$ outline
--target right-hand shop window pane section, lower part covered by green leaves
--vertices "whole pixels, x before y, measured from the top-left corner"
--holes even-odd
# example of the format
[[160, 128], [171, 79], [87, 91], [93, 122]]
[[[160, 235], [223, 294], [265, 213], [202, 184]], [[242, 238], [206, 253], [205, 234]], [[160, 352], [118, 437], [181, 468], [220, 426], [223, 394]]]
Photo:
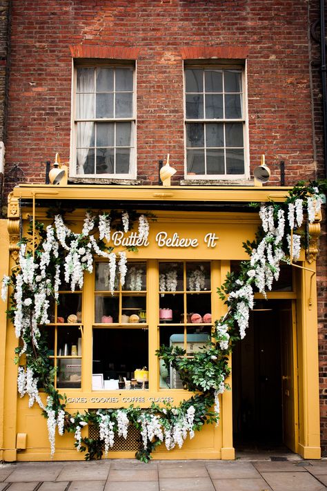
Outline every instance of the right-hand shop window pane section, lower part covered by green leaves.
[[[159, 263], [159, 342], [192, 356], [211, 340], [210, 262]], [[183, 388], [178, 374], [159, 360], [161, 389]]]

